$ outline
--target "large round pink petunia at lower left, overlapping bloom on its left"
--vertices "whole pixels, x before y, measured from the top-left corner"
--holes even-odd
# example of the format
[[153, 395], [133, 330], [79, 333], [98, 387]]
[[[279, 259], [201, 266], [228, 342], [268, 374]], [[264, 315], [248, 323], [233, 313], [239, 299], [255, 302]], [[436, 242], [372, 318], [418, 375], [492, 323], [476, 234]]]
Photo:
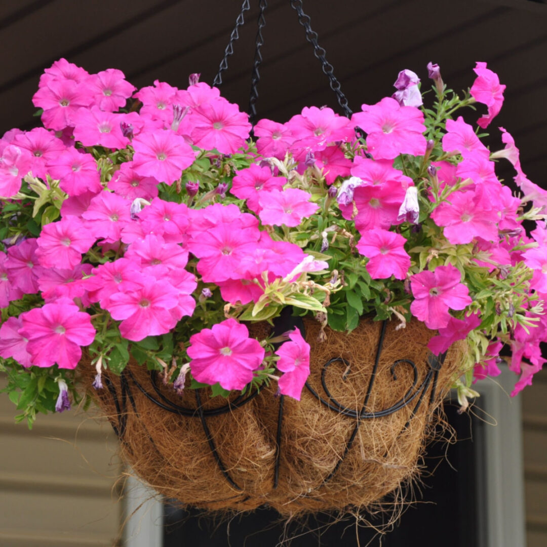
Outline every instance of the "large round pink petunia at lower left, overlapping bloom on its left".
[[19, 334], [27, 340], [32, 364], [48, 367], [55, 363], [61, 369], [74, 369], [82, 357], [80, 346], [89, 346], [95, 329], [88, 313], [68, 299], [61, 299], [20, 315]]

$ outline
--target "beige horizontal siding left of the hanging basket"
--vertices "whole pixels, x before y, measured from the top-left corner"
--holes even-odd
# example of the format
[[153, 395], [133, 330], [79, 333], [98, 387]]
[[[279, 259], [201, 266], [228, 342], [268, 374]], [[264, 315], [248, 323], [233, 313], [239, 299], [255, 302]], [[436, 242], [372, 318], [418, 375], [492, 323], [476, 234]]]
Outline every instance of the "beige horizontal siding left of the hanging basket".
[[15, 424], [0, 395], [0, 545], [119, 545], [120, 467], [107, 423], [76, 412]]

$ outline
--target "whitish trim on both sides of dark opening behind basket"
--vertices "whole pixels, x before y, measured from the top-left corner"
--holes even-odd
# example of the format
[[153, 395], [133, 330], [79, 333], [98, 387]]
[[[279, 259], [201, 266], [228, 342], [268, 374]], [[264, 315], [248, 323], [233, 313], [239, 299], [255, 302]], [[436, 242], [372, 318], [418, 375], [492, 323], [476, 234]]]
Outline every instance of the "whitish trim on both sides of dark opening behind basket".
[[[484, 531], [481, 547], [526, 545], [522, 412], [520, 397], [510, 398], [515, 375], [501, 366], [502, 374], [474, 386], [481, 394], [472, 411], [488, 423], [476, 450], [478, 522]], [[480, 411], [478, 410], [480, 409]], [[495, 423], [495, 425], [494, 425]], [[125, 547], [161, 547], [163, 504], [150, 487], [129, 478], [125, 488]]]

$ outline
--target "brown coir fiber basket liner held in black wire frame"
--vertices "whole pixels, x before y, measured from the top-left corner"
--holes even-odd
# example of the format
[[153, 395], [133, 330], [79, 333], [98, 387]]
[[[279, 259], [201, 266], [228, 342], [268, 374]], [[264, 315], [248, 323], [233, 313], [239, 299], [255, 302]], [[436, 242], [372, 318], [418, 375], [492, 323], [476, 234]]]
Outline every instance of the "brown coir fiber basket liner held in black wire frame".
[[[268, 504], [283, 516], [365, 509], [415, 477], [461, 346], [441, 364], [427, 349], [432, 331], [417, 321], [327, 328], [323, 342], [318, 323], [305, 327], [311, 374], [300, 401], [276, 397], [275, 382], [228, 403], [205, 389], [179, 397], [132, 362], [121, 377], [104, 374], [92, 396], [133, 471], [182, 505]], [[82, 369], [90, 386], [92, 367]]]

